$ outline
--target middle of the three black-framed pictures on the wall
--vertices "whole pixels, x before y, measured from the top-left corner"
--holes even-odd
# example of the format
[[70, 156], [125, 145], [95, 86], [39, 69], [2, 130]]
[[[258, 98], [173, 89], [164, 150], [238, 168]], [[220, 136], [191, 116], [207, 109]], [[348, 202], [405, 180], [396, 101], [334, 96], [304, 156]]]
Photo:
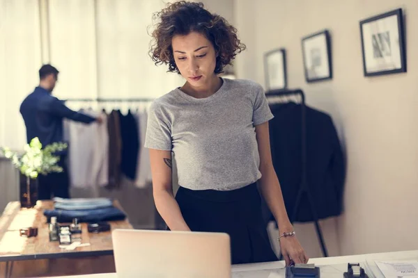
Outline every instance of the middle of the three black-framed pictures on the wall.
[[332, 79], [331, 38], [325, 30], [302, 38], [304, 74], [307, 82]]

